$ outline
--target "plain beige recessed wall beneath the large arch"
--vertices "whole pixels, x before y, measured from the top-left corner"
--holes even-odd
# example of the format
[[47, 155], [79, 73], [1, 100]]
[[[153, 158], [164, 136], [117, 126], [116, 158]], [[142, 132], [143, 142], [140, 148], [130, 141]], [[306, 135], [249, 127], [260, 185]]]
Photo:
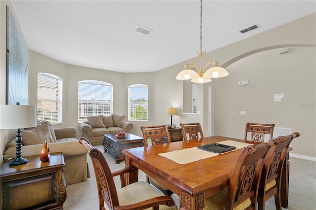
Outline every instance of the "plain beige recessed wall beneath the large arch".
[[[311, 47], [289, 48], [285, 54], [273, 49], [227, 67], [230, 76], [215, 84], [215, 135], [240, 139], [246, 122], [274, 123], [301, 134], [292, 142], [293, 153], [315, 157], [315, 58]], [[237, 84], [243, 80], [249, 84]], [[274, 102], [274, 94], [284, 94], [282, 102]]]

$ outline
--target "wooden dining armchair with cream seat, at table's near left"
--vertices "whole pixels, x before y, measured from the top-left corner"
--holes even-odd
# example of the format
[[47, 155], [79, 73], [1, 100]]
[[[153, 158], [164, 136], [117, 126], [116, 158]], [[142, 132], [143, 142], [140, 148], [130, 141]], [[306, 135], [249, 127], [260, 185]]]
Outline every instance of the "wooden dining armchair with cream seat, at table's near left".
[[[130, 173], [131, 167], [111, 173], [109, 165], [102, 152], [94, 148], [89, 140], [80, 138], [82, 144], [91, 157], [97, 190], [99, 196], [99, 210], [136, 210], [153, 207], [154, 210], [177, 210], [174, 200], [163, 195], [154, 186], [145, 181], [137, 181], [127, 185], [124, 176]], [[114, 176], [119, 175], [121, 188], [116, 189]]]

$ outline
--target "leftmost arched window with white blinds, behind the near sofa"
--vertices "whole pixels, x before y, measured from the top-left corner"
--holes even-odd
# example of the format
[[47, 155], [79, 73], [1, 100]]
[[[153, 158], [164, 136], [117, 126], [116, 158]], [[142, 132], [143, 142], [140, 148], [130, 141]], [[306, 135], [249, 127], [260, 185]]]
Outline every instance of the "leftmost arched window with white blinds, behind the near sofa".
[[63, 122], [63, 79], [50, 73], [38, 73], [38, 121], [52, 125]]

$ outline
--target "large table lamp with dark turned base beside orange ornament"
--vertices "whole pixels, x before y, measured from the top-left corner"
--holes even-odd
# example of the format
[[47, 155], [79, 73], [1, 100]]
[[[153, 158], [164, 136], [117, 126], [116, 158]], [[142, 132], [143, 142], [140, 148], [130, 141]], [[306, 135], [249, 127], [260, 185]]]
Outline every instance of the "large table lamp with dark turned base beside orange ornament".
[[[17, 103], [18, 104], [18, 103]], [[36, 127], [35, 105], [0, 105], [0, 129], [15, 129], [16, 158], [9, 166], [18, 166], [28, 163], [22, 158], [22, 135], [20, 128]]]

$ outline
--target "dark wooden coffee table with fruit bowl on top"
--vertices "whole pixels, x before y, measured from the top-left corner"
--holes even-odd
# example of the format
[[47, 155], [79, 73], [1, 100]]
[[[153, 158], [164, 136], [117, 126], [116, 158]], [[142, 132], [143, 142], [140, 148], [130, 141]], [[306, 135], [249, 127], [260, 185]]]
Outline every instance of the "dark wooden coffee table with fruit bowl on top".
[[104, 134], [103, 148], [104, 152], [110, 152], [118, 164], [125, 159], [122, 150], [144, 146], [144, 139], [133, 134], [125, 133], [124, 137], [118, 137], [116, 134]]

